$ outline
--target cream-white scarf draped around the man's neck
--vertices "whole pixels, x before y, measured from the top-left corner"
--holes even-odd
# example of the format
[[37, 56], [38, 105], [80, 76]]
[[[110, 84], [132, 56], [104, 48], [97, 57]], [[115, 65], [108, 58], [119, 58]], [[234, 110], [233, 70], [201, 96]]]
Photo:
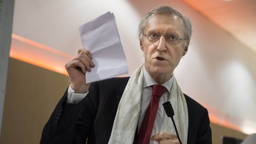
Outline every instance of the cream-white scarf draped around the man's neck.
[[[119, 107], [117, 108], [116, 118], [114, 120], [109, 144], [132, 144], [137, 122], [140, 114], [140, 100], [143, 91], [143, 65], [133, 72], [132, 76], [124, 89]], [[174, 121], [177, 126], [178, 133], [183, 143], [187, 143], [188, 133], [188, 110], [185, 97], [176, 79], [171, 87], [171, 92], [167, 97], [171, 101], [174, 109]], [[162, 105], [159, 105], [160, 107]], [[174, 125], [169, 117], [165, 115], [161, 126], [161, 132], [175, 133]]]

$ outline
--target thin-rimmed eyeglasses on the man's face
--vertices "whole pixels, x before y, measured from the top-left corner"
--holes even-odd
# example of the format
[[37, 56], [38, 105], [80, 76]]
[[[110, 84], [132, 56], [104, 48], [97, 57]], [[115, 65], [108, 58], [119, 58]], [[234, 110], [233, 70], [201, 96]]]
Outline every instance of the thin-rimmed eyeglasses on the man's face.
[[144, 34], [143, 36], [145, 36], [149, 41], [151, 41], [151, 43], [158, 42], [158, 40], [161, 38], [161, 36], [164, 36], [167, 43], [171, 44], [171, 45], [178, 44], [178, 43], [180, 43], [181, 40], [186, 40], [186, 39], [180, 39], [178, 36], [175, 36], [173, 34], [165, 34], [164, 35], [164, 34], [155, 33], [155, 32]]

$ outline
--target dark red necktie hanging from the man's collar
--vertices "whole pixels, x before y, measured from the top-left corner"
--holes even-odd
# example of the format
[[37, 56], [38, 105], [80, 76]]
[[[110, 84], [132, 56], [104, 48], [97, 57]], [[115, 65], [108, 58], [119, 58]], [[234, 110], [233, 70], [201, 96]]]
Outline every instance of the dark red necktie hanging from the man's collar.
[[155, 122], [156, 113], [160, 98], [167, 89], [162, 85], [153, 85], [153, 92], [149, 107], [146, 110], [142, 125], [140, 126], [137, 144], [148, 144], [151, 138], [153, 124]]

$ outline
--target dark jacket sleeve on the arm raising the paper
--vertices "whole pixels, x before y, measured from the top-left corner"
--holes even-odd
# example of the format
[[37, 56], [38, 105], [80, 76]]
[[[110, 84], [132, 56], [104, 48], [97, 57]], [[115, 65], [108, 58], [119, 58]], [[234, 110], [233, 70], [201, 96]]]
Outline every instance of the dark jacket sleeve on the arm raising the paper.
[[[77, 104], [66, 103], [68, 91], [66, 90], [43, 128], [40, 144], [86, 143], [97, 111], [97, 98], [94, 98], [97, 95], [95, 85], [91, 84], [89, 94]], [[79, 123], [81, 120], [83, 120], [82, 124]]]

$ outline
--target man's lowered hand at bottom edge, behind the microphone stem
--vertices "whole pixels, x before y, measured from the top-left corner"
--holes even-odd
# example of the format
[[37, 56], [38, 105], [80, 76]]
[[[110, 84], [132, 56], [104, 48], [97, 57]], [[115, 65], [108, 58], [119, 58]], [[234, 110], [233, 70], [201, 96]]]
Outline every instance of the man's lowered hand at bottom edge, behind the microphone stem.
[[178, 137], [175, 133], [161, 132], [156, 133], [151, 137], [151, 140], [158, 142], [159, 144], [179, 144]]

